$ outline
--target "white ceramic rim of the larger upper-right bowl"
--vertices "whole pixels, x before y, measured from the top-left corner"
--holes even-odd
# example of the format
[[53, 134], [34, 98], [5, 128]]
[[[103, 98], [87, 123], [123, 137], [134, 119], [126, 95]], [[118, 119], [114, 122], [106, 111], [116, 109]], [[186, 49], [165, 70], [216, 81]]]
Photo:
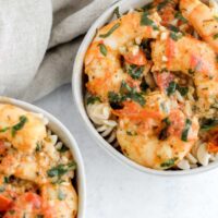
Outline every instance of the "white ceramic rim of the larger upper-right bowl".
[[143, 7], [147, 3], [149, 3], [150, 0], [121, 0], [113, 5], [111, 5], [102, 15], [93, 24], [93, 26], [89, 28], [88, 33], [86, 34], [80, 49], [77, 52], [77, 56], [75, 58], [74, 68], [73, 68], [73, 76], [72, 76], [72, 89], [73, 89], [73, 96], [75, 99], [75, 105], [87, 126], [88, 132], [92, 134], [92, 136], [96, 140], [98, 145], [106, 149], [112, 157], [116, 157], [118, 160], [120, 160], [124, 165], [129, 165], [134, 169], [137, 169], [142, 172], [148, 172], [159, 175], [187, 175], [187, 174], [194, 174], [203, 171], [208, 171], [210, 169], [214, 169], [218, 167], [218, 162], [211, 162], [206, 167], [199, 167], [196, 169], [191, 170], [178, 170], [178, 171], [158, 171], [154, 169], [149, 169], [146, 167], [143, 167], [131, 159], [126, 158], [124, 155], [119, 153], [116, 148], [113, 148], [107, 141], [105, 141], [100, 134], [96, 131], [95, 126], [90, 122], [85, 107], [84, 107], [84, 82], [83, 82], [83, 75], [84, 75], [84, 57], [87, 51], [87, 48], [89, 44], [92, 43], [94, 36], [96, 35], [96, 29], [104, 26], [110, 19], [112, 17], [113, 11], [117, 7], [119, 7], [121, 14], [124, 12], [128, 12], [131, 9]]

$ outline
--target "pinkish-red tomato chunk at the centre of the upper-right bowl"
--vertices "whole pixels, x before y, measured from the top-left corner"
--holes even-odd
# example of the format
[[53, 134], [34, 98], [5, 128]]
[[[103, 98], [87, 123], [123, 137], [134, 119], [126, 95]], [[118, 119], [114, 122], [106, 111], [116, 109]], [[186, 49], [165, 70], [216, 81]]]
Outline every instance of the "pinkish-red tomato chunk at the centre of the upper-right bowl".
[[162, 73], [157, 72], [155, 74], [155, 80], [158, 87], [161, 90], [166, 90], [169, 87], [170, 82], [174, 80], [174, 75], [168, 72], [162, 72]]

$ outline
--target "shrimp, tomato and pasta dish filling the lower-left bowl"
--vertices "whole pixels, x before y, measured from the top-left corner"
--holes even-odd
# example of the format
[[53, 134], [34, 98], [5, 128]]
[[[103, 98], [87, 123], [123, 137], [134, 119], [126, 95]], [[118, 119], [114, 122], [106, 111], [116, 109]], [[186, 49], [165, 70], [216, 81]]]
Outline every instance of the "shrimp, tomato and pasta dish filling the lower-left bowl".
[[22, 101], [0, 100], [0, 217], [82, 217], [80, 157], [74, 148], [72, 153], [72, 138], [63, 126], [61, 133], [61, 124], [39, 110]]

